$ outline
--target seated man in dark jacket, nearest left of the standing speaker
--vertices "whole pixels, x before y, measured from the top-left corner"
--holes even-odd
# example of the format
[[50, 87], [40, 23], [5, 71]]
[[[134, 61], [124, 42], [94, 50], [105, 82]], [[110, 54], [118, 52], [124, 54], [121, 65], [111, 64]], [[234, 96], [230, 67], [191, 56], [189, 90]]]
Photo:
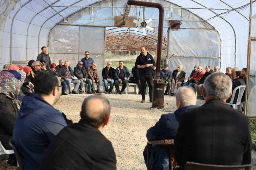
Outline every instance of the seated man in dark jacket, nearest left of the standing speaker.
[[[125, 88], [127, 87], [128, 80], [127, 78], [130, 76], [130, 72], [127, 67], [123, 65], [123, 61], [119, 61], [119, 67], [115, 69], [115, 87], [116, 94], [123, 94]], [[122, 89], [120, 91], [119, 84], [122, 83]]]

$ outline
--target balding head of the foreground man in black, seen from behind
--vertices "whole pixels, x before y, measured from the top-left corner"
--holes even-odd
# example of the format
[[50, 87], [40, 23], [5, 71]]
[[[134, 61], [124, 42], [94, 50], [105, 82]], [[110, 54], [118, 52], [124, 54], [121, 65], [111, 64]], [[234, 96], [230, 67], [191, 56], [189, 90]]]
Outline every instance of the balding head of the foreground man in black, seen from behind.
[[98, 128], [110, 117], [110, 109], [110, 102], [105, 96], [91, 95], [86, 97], [82, 104], [81, 119], [88, 125]]

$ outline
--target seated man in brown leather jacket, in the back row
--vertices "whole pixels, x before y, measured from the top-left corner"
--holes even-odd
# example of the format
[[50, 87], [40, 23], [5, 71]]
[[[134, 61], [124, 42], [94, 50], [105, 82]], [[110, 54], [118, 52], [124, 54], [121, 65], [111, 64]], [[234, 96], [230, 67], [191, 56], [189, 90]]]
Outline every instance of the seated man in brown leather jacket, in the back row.
[[[100, 91], [101, 81], [99, 80], [98, 71], [96, 69], [97, 64], [93, 63], [91, 67], [87, 68], [88, 78], [92, 80], [92, 93], [102, 93]], [[97, 84], [97, 90], [95, 90], [95, 84]]]

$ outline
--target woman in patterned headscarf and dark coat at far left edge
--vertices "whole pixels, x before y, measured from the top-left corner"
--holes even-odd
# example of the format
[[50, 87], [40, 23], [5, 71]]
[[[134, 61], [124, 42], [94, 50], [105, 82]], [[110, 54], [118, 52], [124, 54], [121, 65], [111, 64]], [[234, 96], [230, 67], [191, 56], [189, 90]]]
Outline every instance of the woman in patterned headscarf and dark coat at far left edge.
[[[0, 72], [0, 140], [6, 150], [12, 150], [8, 144], [20, 109], [17, 99], [20, 81], [8, 71]], [[8, 164], [17, 166], [14, 154], [9, 155]]]

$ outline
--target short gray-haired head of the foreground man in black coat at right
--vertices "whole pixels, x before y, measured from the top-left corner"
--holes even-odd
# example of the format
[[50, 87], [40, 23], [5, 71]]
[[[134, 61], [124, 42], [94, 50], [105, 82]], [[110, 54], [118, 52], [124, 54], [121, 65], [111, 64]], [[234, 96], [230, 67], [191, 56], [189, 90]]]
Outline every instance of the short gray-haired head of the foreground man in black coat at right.
[[214, 96], [219, 100], [228, 99], [232, 91], [232, 81], [230, 77], [223, 73], [214, 73], [205, 79], [203, 83], [206, 96]]

